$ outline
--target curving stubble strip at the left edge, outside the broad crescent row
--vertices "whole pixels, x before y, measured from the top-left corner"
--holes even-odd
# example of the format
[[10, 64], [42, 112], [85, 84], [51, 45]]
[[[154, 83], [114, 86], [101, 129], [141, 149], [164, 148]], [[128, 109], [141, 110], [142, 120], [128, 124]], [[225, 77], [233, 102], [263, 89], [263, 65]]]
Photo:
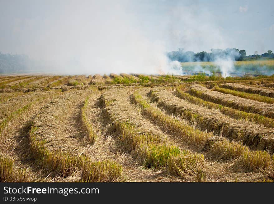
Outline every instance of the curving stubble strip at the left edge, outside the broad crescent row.
[[[39, 109], [47, 102], [60, 94], [60, 91], [50, 91], [48, 95], [37, 97], [35, 101], [28, 103], [23, 108], [17, 109], [1, 122], [1, 181], [19, 182], [43, 179], [40, 170], [30, 169], [23, 161], [26, 159], [26, 134], [28, 133], [27, 130], [30, 126], [29, 122], [31, 118], [34, 117]], [[29, 141], [27, 141], [27, 143], [29, 144]]]

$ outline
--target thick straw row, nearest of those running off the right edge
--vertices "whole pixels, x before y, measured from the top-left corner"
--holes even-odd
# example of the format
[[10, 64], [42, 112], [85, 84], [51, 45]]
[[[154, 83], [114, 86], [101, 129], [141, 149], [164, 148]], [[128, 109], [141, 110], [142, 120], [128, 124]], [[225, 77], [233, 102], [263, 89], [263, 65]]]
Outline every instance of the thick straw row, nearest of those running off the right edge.
[[180, 114], [200, 129], [213, 131], [230, 140], [258, 150], [274, 151], [274, 130], [247, 121], [234, 120], [218, 111], [198, 106], [173, 96], [165, 89], [153, 89], [150, 96], [170, 113]]

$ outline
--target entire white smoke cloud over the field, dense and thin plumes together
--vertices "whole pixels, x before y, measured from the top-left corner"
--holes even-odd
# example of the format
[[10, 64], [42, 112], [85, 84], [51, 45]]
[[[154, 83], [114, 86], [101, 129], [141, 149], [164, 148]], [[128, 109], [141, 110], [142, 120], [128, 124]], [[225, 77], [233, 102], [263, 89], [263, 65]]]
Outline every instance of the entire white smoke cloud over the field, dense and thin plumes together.
[[[166, 3], [159, 2], [163, 7]], [[12, 32], [13, 39], [0, 38], [3, 52], [27, 54], [35, 60], [33, 69], [55, 74], [182, 74], [180, 63], [166, 56], [168, 50], [229, 47], [210, 12], [181, 2], [166, 6], [162, 17], [153, 20], [143, 14], [145, 1], [23, 4], [34, 4], [30, 9], [42, 14], [15, 15], [11, 25], [3, 28]], [[20, 2], [13, 6], [20, 9]], [[157, 13], [158, 7], [150, 9]], [[231, 69], [227, 61], [233, 59], [216, 59], [224, 72]]]

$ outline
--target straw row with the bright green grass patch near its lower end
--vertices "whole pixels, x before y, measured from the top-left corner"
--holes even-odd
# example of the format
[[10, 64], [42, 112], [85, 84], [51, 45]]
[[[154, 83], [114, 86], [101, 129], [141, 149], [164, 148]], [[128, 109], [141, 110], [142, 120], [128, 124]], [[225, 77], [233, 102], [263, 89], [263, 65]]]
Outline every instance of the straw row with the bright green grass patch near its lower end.
[[113, 89], [101, 96], [115, 130], [127, 151], [133, 151], [147, 168], [166, 168], [168, 173], [187, 178], [200, 175], [204, 157], [180, 150], [166, 136], [141, 117], [127, 101], [125, 91]]

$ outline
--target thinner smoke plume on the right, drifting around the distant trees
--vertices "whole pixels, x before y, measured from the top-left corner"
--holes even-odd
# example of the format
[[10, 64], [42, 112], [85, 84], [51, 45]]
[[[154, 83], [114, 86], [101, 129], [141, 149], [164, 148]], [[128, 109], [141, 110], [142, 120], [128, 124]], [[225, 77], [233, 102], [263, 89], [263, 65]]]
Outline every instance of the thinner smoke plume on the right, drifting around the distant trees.
[[[170, 11], [169, 19], [169, 43], [172, 48], [177, 46], [186, 51], [210, 52], [210, 48], [226, 49], [232, 44], [216, 25], [216, 17], [206, 9], [197, 9], [196, 6], [177, 6]], [[235, 69], [235, 56], [233, 52], [226, 56], [215, 53], [214, 64], [218, 66], [223, 76], [229, 76], [229, 73]], [[199, 62], [192, 71], [211, 74]]]

